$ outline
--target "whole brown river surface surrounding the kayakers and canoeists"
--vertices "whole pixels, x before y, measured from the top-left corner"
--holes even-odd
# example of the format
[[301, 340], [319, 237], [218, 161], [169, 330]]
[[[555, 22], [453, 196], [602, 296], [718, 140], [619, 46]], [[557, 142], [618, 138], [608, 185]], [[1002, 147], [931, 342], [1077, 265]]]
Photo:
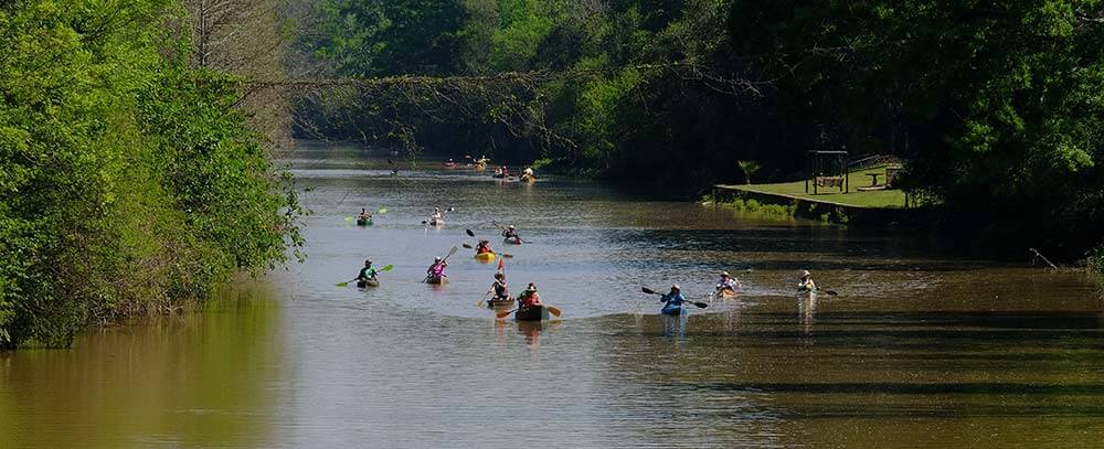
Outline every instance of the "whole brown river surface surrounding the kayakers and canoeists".
[[[1104, 306], [1069, 272], [937, 240], [650, 202], [596, 183], [500, 183], [304, 147], [309, 259], [201, 313], [0, 354], [0, 447], [1091, 447], [1104, 437]], [[456, 207], [443, 228], [421, 225]], [[386, 207], [369, 228], [344, 218]], [[503, 247], [491, 220], [532, 240]], [[476, 307], [512, 253], [560, 322]], [[395, 269], [337, 288], [364, 257]], [[737, 300], [659, 317], [720, 269]], [[840, 296], [798, 298], [811, 269]]]

